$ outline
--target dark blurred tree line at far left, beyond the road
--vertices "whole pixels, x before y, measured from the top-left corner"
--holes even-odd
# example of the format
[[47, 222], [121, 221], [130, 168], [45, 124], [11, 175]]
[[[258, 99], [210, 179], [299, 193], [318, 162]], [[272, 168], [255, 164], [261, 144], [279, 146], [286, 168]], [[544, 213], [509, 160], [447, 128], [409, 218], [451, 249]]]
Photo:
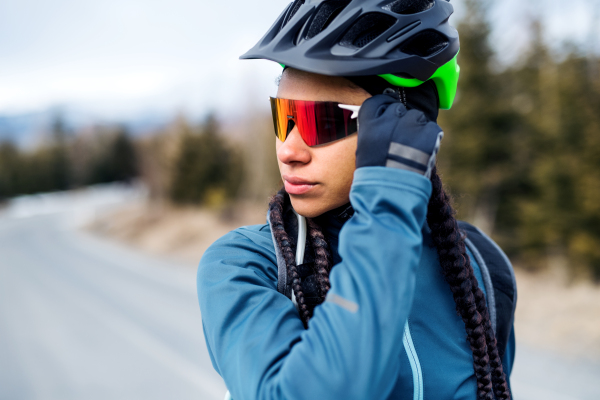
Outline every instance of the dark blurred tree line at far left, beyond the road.
[[138, 176], [136, 149], [124, 127], [95, 127], [77, 134], [57, 117], [41, 144], [23, 150], [0, 143], [0, 201]]

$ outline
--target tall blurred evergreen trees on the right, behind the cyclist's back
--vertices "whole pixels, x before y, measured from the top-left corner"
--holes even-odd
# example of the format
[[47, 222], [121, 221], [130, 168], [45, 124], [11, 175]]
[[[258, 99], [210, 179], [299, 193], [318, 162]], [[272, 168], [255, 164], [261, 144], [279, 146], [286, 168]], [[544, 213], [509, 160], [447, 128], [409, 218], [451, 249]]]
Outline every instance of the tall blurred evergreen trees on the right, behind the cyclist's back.
[[458, 98], [442, 112], [440, 171], [459, 217], [513, 263], [600, 281], [600, 57], [593, 40], [551, 49], [533, 20], [529, 49], [498, 71], [485, 2], [458, 30]]

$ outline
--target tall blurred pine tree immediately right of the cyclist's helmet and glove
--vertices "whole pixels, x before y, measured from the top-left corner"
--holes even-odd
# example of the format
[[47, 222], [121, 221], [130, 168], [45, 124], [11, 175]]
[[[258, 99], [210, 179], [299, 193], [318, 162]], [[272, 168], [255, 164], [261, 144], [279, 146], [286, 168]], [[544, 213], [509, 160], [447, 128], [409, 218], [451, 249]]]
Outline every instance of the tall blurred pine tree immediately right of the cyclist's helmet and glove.
[[446, 133], [440, 170], [460, 199], [459, 215], [491, 234], [505, 225], [499, 217], [509, 218], [503, 203], [519, 184], [513, 168], [519, 115], [507, 103], [505, 84], [493, 68], [487, 2], [464, 4], [457, 99], [440, 116]]

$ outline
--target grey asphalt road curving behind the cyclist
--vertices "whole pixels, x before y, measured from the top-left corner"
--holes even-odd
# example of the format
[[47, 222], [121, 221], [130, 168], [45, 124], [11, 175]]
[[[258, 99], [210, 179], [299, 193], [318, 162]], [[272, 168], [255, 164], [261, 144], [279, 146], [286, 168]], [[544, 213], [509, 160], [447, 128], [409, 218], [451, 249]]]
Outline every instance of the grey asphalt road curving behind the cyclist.
[[[0, 211], [0, 400], [222, 399], [195, 268], [77, 229], [143, 195], [105, 186]], [[600, 363], [519, 346], [517, 400], [600, 399]]]

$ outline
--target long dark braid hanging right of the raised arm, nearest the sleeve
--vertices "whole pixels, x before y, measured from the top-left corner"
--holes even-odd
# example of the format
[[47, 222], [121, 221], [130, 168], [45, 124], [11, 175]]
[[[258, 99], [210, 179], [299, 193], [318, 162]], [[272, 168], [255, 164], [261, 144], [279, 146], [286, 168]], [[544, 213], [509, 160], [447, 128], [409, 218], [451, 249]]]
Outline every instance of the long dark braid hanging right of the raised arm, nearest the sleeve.
[[[477, 398], [493, 399], [490, 359], [486, 341], [486, 323], [489, 315], [478, 311], [473, 293], [473, 267], [466, 252], [450, 197], [442, 187], [442, 180], [434, 169], [431, 177], [432, 194], [427, 210], [427, 222], [436, 245], [440, 265], [456, 303], [456, 309], [465, 323], [467, 340], [473, 352], [473, 368], [477, 378]], [[476, 280], [475, 280], [476, 282]], [[476, 283], [475, 283], [476, 284]]]

